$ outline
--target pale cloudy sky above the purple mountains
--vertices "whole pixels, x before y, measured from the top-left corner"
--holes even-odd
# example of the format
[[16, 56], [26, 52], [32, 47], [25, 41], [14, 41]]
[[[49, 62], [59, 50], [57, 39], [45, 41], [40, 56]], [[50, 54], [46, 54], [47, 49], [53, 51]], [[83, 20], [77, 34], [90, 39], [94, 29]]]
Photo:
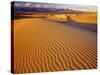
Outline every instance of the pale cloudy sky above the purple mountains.
[[89, 5], [73, 5], [73, 4], [55, 4], [55, 3], [37, 3], [37, 2], [21, 2], [15, 1], [15, 6], [19, 7], [42, 7], [42, 8], [63, 8], [63, 9], [73, 9], [79, 11], [89, 11], [89, 12], [96, 12], [96, 6], [89, 6]]

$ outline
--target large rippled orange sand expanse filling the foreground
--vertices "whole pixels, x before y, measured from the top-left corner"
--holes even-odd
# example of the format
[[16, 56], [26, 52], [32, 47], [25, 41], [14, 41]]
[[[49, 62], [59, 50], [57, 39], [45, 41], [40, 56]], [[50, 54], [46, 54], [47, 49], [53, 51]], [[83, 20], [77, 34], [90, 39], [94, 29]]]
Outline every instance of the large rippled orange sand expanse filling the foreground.
[[96, 36], [42, 18], [14, 20], [14, 73], [96, 68]]

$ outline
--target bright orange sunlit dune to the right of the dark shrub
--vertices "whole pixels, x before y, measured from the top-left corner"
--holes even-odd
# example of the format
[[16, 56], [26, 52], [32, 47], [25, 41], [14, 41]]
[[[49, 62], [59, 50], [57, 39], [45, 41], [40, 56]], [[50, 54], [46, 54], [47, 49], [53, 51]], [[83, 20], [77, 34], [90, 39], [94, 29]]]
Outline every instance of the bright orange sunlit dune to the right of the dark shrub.
[[73, 14], [71, 16], [72, 20], [80, 23], [93, 23], [97, 24], [97, 14], [87, 13], [87, 14]]

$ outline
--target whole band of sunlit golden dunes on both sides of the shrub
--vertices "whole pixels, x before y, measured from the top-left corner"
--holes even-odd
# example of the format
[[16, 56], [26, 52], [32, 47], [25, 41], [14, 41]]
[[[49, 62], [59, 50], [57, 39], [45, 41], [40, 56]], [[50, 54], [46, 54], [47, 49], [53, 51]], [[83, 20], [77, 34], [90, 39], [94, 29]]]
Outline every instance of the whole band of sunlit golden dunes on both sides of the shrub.
[[69, 15], [75, 22], [97, 24], [97, 13], [48, 15], [47, 19], [66, 22]]

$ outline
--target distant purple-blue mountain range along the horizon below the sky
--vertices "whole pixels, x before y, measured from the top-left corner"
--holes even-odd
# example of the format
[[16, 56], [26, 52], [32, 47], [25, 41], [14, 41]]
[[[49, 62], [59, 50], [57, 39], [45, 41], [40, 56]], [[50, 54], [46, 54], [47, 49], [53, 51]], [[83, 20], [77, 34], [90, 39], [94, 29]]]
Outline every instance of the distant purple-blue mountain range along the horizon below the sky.
[[86, 13], [83, 11], [72, 9], [56, 9], [56, 8], [36, 8], [36, 7], [14, 7], [15, 12], [46, 12], [46, 13], [66, 13], [66, 14], [78, 14]]

